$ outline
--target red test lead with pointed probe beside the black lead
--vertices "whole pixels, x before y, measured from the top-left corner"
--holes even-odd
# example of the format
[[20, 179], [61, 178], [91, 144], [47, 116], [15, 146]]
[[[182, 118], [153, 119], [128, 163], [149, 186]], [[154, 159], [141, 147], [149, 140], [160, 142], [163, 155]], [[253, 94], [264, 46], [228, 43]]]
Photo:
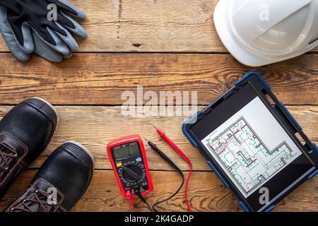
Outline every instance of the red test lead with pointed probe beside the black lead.
[[[153, 127], [155, 127], [155, 126], [153, 125]], [[157, 127], [155, 127], [155, 130], [157, 131], [159, 136], [161, 138], [163, 138], [163, 140], [165, 140], [165, 142], [167, 142], [170, 145], [170, 147], [173, 148], [188, 163], [188, 165], [190, 167], [189, 176], [187, 178], [187, 183], [186, 183], [186, 187], [184, 190], [184, 198], [185, 198], [185, 201], [187, 203], [188, 210], [189, 210], [189, 212], [191, 212], [191, 206], [190, 206], [188, 199], [187, 199], [187, 190], [188, 190], [188, 186], [189, 186], [190, 177], [192, 174], [192, 162], [189, 160], [189, 157], [187, 157], [187, 155], [185, 155], [182, 152], [182, 150], [180, 150], [180, 148], [178, 148], [178, 146], [175, 145], [175, 143], [173, 143], [173, 141], [171, 141], [170, 138], [168, 138], [161, 129], [158, 129]]]

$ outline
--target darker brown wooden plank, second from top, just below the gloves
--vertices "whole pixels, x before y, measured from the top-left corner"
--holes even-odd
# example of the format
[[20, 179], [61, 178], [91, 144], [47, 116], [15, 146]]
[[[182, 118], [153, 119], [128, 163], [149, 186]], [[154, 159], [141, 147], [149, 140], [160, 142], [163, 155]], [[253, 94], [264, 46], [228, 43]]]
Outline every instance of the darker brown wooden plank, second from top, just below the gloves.
[[[143, 93], [196, 91], [198, 105], [208, 105], [250, 70], [228, 54], [75, 54], [61, 64], [0, 54], [0, 61], [0, 105], [33, 96], [54, 105], [121, 105], [137, 85]], [[318, 104], [317, 54], [257, 70], [285, 105]]]

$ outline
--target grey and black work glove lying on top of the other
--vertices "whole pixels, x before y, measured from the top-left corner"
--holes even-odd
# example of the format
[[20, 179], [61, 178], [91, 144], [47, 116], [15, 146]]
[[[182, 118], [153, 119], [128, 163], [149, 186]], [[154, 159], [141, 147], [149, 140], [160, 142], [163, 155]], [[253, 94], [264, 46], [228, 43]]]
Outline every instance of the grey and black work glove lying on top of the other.
[[1, 0], [0, 6], [7, 8], [7, 18], [11, 30], [23, 47], [29, 51], [28, 36], [30, 29], [61, 54], [69, 54], [69, 50], [78, 51], [78, 43], [71, 33], [86, 37], [86, 31], [72, 18], [86, 18], [66, 0]]

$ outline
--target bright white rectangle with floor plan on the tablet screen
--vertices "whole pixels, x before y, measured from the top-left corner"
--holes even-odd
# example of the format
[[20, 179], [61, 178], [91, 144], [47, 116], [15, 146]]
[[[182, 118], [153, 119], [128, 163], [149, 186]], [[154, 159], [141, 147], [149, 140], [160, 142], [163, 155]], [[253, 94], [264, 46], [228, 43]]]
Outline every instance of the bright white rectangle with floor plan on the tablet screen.
[[201, 142], [245, 198], [302, 154], [259, 97]]

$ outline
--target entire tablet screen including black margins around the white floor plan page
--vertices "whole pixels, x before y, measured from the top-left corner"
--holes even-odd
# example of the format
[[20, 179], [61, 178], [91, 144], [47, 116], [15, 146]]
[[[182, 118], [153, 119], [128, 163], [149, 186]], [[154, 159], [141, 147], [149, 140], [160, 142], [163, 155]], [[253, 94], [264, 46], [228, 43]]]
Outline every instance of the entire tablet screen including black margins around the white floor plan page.
[[[235, 187], [235, 194], [254, 211], [264, 210], [314, 169], [293, 133], [278, 119], [266, 98], [247, 83], [189, 128]], [[269, 193], [266, 203], [260, 201], [264, 189]]]

